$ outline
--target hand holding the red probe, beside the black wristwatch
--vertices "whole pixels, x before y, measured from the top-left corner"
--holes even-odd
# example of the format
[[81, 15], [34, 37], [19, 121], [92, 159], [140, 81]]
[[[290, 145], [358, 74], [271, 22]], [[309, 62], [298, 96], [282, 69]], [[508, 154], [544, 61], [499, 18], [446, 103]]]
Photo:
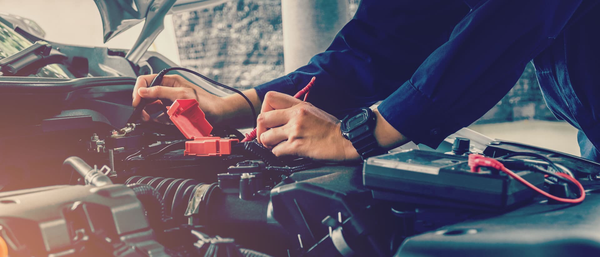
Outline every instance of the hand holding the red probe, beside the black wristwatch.
[[341, 135], [340, 121], [312, 104], [270, 91], [257, 118], [256, 138], [275, 156], [316, 160], [359, 160], [352, 143]]

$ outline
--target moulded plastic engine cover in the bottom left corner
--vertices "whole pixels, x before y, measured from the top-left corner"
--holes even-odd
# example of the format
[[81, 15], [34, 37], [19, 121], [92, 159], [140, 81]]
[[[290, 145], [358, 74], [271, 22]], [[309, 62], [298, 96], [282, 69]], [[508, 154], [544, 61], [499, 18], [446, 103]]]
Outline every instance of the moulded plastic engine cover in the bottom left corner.
[[0, 237], [9, 256], [167, 255], [124, 185], [1, 193]]

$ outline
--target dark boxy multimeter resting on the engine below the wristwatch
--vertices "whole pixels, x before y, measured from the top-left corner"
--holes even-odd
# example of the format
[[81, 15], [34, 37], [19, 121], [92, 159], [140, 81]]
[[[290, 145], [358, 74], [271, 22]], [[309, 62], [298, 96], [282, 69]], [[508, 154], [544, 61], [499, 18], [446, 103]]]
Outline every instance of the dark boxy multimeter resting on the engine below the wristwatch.
[[[543, 174], [515, 172], [535, 186], [544, 184]], [[363, 182], [375, 199], [478, 210], [508, 208], [536, 195], [502, 172], [471, 172], [466, 156], [421, 150], [369, 158]]]

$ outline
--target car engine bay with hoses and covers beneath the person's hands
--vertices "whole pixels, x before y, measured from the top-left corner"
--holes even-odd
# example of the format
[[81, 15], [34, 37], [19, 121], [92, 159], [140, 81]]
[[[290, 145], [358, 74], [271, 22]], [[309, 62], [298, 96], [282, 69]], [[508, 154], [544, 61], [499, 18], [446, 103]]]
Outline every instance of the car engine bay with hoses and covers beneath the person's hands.
[[[4, 255], [505, 256], [555, 255], [572, 244], [582, 253], [598, 249], [598, 219], [588, 215], [600, 206], [593, 193], [597, 163], [517, 142], [482, 142], [468, 131], [448, 139], [472, 139], [460, 153], [445, 153], [446, 142], [364, 164], [279, 158], [257, 141], [238, 142], [244, 135], [226, 127], [210, 135], [227, 141], [227, 153], [214, 141], [203, 141], [202, 151], [215, 154], [192, 153], [194, 136], [181, 124], [126, 123], [133, 83], [2, 80], [2, 119], [11, 121], [0, 135]], [[552, 195], [586, 199], [564, 204], [498, 169], [472, 172], [476, 155], [501, 160]], [[571, 174], [586, 192], [534, 168]]]

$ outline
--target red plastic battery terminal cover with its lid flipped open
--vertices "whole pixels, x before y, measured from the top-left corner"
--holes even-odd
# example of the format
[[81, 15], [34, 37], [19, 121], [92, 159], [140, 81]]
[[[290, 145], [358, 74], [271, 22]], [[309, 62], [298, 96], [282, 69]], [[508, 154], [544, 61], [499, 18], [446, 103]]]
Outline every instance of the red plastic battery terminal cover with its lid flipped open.
[[211, 136], [212, 125], [206, 121], [196, 99], [178, 99], [167, 107], [167, 114], [185, 138], [186, 156], [223, 156], [231, 154], [231, 148], [239, 139]]

